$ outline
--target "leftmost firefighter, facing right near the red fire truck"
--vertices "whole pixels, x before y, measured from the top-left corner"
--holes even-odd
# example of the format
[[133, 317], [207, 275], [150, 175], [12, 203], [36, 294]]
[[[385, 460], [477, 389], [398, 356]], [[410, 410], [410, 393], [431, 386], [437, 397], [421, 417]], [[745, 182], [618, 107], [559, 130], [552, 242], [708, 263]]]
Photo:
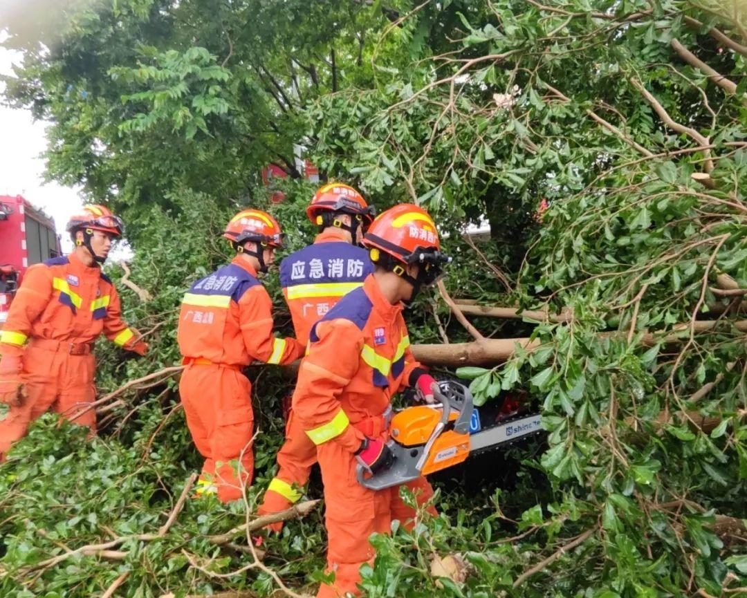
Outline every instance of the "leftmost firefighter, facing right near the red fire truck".
[[[87, 205], [66, 230], [73, 252], [30, 267], [0, 334], [0, 462], [29, 424], [52, 409], [96, 432], [93, 346], [105, 334], [144, 355], [146, 343], [121, 317], [120, 298], [101, 271], [122, 220], [101, 205]], [[7, 409], [7, 408], [6, 408]]]

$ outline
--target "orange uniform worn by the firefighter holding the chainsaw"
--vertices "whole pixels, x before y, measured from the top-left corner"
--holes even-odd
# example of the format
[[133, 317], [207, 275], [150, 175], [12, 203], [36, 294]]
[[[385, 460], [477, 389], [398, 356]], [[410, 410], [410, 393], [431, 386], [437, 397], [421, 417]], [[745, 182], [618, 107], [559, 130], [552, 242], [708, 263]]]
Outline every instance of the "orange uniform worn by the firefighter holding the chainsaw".
[[[421, 373], [409, 344], [402, 305], [388, 302], [373, 275], [311, 329], [293, 407], [317, 446], [324, 483], [327, 567], [335, 582], [321, 585], [317, 597], [358, 594], [359, 568], [374, 555], [369, 536], [388, 533], [395, 519], [412, 525], [415, 517], [398, 487], [374, 492], [360, 485], [354, 456], [364, 437], [388, 440], [391, 397]], [[433, 496], [422, 477], [407, 486], [419, 504]]]

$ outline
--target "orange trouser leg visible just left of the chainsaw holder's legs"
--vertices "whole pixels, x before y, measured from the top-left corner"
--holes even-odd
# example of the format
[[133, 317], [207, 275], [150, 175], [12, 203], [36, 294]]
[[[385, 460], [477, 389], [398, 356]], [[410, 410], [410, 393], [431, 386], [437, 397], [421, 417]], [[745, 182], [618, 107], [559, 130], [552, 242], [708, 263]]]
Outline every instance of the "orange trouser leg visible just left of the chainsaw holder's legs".
[[[285, 488], [300, 489], [309, 481], [311, 466], [317, 462], [317, 447], [311, 442], [309, 436], [301, 427], [297, 417], [294, 417], [293, 409], [288, 414], [288, 423], [285, 425], [285, 443], [280, 448], [278, 455], [278, 473], [270, 482], [264, 499], [259, 507], [258, 514], [266, 515], [285, 511], [296, 501], [292, 493], [283, 492], [282, 482]], [[277, 490], [273, 489], [276, 486]], [[297, 496], [300, 497], [300, 494]]]

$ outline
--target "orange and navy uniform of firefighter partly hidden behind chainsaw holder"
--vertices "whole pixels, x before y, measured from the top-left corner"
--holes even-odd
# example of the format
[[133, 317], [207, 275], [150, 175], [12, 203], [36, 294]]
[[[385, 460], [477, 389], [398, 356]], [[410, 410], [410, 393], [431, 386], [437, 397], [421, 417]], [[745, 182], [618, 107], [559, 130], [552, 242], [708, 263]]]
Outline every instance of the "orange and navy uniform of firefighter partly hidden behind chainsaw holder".
[[[345, 239], [345, 231], [328, 228], [317, 234], [312, 245], [288, 255], [280, 264], [282, 292], [291, 311], [296, 338], [304, 346], [309, 342], [311, 326], [373, 272], [368, 252]], [[283, 511], [297, 502], [302, 496], [300, 489], [309, 481], [311, 466], [317, 461], [316, 446], [292, 409], [277, 461], [278, 473], [264, 494], [259, 514]]]

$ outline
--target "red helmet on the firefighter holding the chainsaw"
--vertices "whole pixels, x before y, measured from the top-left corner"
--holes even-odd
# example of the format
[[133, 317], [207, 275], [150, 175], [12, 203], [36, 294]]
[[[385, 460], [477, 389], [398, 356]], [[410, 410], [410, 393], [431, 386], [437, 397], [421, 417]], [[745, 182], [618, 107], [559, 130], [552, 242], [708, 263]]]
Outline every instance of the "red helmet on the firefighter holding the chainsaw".
[[[433, 218], [414, 204], [395, 205], [373, 220], [363, 237], [374, 264], [383, 263], [382, 253], [395, 262], [422, 264], [424, 284], [432, 284], [441, 273], [441, 265], [451, 261], [441, 253], [441, 242]], [[394, 272], [403, 272], [396, 265]]]

